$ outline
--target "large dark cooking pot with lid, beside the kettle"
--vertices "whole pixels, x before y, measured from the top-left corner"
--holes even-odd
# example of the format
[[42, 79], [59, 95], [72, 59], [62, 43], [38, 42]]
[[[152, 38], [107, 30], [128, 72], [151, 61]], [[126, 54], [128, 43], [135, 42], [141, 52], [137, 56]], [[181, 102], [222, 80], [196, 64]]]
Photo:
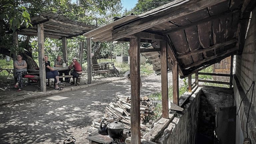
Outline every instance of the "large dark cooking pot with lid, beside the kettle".
[[124, 124], [120, 122], [112, 122], [107, 125], [108, 135], [111, 138], [120, 138], [124, 132]]

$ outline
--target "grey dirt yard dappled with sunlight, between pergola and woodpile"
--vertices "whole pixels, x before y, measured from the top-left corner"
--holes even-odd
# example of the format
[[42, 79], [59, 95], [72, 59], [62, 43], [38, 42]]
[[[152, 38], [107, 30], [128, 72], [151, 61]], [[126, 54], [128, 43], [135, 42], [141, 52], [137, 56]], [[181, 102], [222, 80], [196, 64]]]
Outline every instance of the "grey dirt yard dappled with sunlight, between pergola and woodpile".
[[[180, 80], [182, 82], [182, 80]], [[168, 83], [172, 75], [168, 73]], [[161, 76], [142, 77], [141, 96], [161, 90]], [[5, 96], [1, 89], [1, 96]], [[10, 93], [10, 92], [6, 92]], [[87, 129], [103, 117], [115, 94], [130, 95], [130, 83], [118, 80], [29, 101], [0, 106], [0, 140], [3, 144], [61, 144], [74, 137], [89, 143]]]

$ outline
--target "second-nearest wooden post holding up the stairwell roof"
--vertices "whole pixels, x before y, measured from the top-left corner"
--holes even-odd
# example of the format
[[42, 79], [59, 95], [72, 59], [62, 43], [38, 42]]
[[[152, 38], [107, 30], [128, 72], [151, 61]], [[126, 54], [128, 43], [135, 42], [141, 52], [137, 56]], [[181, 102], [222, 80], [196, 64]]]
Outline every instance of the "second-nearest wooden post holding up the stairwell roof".
[[160, 42], [160, 59], [161, 59], [161, 88], [162, 88], [162, 116], [169, 118], [168, 107], [168, 76], [167, 76], [167, 43]]

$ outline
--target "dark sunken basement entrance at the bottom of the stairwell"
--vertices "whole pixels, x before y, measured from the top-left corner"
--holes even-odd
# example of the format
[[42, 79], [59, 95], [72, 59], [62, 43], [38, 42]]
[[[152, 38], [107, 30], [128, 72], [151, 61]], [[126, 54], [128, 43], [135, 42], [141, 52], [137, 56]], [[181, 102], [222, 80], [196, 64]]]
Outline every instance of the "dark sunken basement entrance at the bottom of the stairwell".
[[233, 90], [202, 88], [196, 144], [235, 144]]

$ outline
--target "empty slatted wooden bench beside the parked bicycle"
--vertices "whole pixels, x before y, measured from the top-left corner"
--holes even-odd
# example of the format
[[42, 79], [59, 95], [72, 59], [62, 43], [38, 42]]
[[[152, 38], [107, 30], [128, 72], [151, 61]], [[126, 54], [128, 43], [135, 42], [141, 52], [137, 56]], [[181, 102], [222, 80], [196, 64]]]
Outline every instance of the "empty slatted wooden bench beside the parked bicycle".
[[117, 70], [114, 70], [113, 67], [109, 67], [109, 64], [93, 64], [92, 65], [92, 76], [94, 78], [94, 76], [96, 74], [102, 74], [102, 73], [112, 73], [113, 75], [117, 75], [118, 76], [118, 72]]

